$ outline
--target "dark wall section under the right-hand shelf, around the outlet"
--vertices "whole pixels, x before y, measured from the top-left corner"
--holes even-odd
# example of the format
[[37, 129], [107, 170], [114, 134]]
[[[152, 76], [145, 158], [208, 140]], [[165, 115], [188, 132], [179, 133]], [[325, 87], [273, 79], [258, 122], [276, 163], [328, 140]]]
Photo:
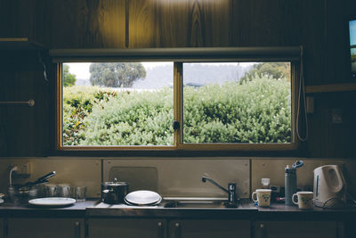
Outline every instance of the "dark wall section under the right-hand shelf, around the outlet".
[[[309, 114], [308, 157], [355, 157], [355, 98], [355, 92], [328, 93], [315, 96], [315, 112]], [[333, 123], [333, 110], [341, 110], [342, 123]]]

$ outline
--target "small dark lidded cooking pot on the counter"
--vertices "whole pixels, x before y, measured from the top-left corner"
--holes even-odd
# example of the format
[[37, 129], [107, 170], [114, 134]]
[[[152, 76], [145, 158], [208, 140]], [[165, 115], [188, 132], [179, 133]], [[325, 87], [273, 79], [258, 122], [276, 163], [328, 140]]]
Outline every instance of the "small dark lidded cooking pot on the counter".
[[128, 193], [127, 182], [105, 182], [101, 184], [101, 201], [109, 204], [124, 203], [125, 196]]

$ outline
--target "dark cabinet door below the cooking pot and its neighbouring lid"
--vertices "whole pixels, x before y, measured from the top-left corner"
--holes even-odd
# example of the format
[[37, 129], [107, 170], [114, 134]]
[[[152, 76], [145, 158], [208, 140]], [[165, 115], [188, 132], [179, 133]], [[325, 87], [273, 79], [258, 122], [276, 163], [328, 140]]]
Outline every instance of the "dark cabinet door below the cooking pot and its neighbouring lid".
[[166, 222], [161, 219], [89, 218], [89, 238], [165, 238]]

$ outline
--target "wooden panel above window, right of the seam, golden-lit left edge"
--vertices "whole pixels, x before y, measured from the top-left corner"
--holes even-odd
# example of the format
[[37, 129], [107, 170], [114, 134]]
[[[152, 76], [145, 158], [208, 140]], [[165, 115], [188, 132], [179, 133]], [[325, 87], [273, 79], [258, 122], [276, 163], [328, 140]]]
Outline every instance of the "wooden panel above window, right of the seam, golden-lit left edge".
[[129, 1], [129, 47], [227, 46], [230, 1]]

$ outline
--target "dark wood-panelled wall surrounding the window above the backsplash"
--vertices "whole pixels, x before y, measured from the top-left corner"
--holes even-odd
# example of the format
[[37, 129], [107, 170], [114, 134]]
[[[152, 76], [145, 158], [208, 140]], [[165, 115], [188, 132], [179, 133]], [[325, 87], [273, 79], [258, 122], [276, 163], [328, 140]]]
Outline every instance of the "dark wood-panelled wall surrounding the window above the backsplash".
[[[350, 82], [346, 20], [355, 8], [352, 0], [0, 0], [0, 37], [29, 37], [47, 48], [303, 45], [305, 84], [338, 84]], [[45, 155], [52, 87], [36, 54], [7, 58], [2, 53], [0, 100], [44, 103], [0, 107], [0, 155]], [[303, 155], [355, 157], [355, 93], [314, 97]], [[342, 124], [331, 122], [335, 109], [343, 111]]]

